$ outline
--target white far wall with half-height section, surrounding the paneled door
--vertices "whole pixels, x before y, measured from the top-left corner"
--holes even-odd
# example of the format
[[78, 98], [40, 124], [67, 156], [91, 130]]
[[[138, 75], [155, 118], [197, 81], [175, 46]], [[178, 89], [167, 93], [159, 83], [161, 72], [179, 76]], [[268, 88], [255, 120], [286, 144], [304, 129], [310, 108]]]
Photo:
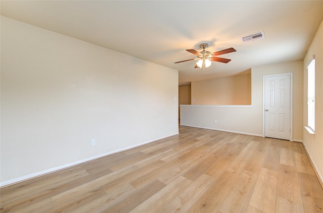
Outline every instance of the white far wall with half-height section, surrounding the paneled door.
[[[283, 73], [293, 73], [293, 139], [301, 141], [303, 139], [303, 61], [253, 67], [251, 105], [181, 105], [181, 125], [262, 135], [262, 78], [265, 75]], [[214, 123], [214, 119], [217, 119], [217, 124]]]

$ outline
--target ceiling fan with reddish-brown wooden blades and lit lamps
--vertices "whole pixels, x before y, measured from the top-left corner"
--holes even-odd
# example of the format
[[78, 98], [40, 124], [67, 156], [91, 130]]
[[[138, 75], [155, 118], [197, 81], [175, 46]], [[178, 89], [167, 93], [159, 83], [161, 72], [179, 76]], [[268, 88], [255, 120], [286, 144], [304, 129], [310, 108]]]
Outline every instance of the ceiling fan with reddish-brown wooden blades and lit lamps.
[[182, 61], [177, 61], [174, 63], [180, 63], [180, 62], [185, 62], [185, 61], [189, 61], [189, 60], [198, 60], [196, 62], [196, 65], [194, 68], [200, 67], [200, 68], [205, 68], [211, 65], [211, 61], [218, 61], [218, 62], [222, 62], [222, 63], [228, 63], [229, 61], [231, 61], [231, 59], [227, 59], [227, 58], [220, 58], [220, 57], [215, 57], [217, 55], [223, 55], [223, 54], [227, 54], [230, 52], [235, 52], [237, 50], [235, 50], [234, 48], [228, 48], [228, 49], [224, 49], [224, 50], [220, 50], [217, 52], [210, 52], [210, 51], [206, 51], [205, 48], [208, 47], [207, 43], [202, 43], [199, 45], [200, 48], [203, 49], [203, 51], [196, 51], [195, 49], [187, 49], [186, 51], [193, 53], [194, 55], [197, 55], [197, 58], [192, 58], [192, 59], [188, 59], [188, 60], [182, 60]]

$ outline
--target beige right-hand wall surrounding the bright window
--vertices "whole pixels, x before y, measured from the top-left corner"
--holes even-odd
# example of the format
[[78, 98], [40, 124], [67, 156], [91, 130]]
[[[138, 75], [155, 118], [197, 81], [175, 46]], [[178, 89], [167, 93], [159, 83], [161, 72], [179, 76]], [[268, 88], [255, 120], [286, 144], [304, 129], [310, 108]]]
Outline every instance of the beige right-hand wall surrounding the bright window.
[[304, 111], [303, 126], [307, 126], [307, 68], [306, 64], [315, 55], [315, 135], [303, 128], [305, 148], [323, 182], [323, 21], [304, 57]]

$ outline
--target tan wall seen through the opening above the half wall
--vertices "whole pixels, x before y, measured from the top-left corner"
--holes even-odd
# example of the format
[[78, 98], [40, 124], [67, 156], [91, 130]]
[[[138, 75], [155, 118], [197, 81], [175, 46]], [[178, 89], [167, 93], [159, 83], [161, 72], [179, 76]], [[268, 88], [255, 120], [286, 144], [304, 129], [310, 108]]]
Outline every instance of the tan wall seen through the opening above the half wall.
[[251, 104], [251, 72], [245, 75], [192, 82], [192, 104]]

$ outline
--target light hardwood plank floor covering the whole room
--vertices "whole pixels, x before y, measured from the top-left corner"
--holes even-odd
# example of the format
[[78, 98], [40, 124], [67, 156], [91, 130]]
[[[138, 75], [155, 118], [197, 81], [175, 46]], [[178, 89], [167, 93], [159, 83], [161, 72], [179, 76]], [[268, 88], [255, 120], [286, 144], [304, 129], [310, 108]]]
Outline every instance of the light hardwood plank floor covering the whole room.
[[301, 143], [185, 126], [0, 195], [1, 212], [323, 212]]

